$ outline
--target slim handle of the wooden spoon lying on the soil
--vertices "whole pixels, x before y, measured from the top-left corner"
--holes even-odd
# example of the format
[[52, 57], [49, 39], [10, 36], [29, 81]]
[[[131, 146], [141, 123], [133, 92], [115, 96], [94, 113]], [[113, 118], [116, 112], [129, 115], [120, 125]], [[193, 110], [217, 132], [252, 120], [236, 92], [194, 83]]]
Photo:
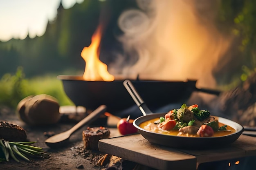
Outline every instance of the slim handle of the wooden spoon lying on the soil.
[[105, 113], [107, 110], [106, 105], [101, 105], [99, 106], [96, 110], [94, 110], [92, 113], [90, 113], [88, 116], [83, 118], [81, 121], [79, 121], [75, 126], [73, 126], [69, 131], [72, 134], [79, 128], [81, 128], [85, 124], [89, 124], [96, 120], [101, 114]]

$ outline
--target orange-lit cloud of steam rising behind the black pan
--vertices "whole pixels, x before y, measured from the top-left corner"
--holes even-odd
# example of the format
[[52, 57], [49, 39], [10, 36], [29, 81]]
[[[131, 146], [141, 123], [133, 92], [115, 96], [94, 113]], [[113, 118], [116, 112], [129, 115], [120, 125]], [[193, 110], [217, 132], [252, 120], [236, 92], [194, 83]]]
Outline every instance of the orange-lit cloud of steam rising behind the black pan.
[[138, 55], [137, 62], [124, 67], [122, 74], [139, 74], [140, 79], [197, 79], [197, 86], [214, 88], [212, 70], [231, 38], [217, 31], [216, 10], [210, 2], [137, 0], [140, 9], [124, 11], [118, 20], [125, 52], [131, 58], [134, 51]]

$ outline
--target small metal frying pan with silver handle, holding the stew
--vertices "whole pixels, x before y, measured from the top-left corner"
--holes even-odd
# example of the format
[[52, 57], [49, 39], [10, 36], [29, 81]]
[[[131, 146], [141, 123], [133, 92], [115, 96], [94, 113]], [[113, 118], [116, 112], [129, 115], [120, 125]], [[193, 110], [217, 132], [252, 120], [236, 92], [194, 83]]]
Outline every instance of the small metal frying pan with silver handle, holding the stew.
[[[135, 87], [132, 85], [132, 82], [129, 80], [124, 81], [124, 86], [131, 95], [134, 102], [137, 104], [143, 116], [138, 117], [133, 122], [133, 125], [139, 130], [140, 134], [147, 139], [148, 141], [160, 144], [163, 146], [168, 146], [172, 148], [186, 148], [186, 149], [205, 149], [205, 148], [213, 148], [220, 147], [230, 144], [242, 134], [244, 131], [243, 126], [240, 124], [231, 121], [229, 119], [225, 119], [222, 117], [216, 117], [220, 123], [231, 126], [236, 130], [235, 133], [230, 135], [221, 136], [221, 137], [183, 137], [183, 136], [174, 136], [174, 135], [164, 135], [160, 133], [150, 132], [145, 130], [139, 125], [145, 121], [150, 119], [158, 118], [166, 114], [166, 113], [152, 113], [150, 109], [146, 106], [143, 99], [140, 97], [139, 93], [137, 93]], [[156, 99], [157, 100], [157, 99]], [[169, 110], [168, 110], [169, 111]]]

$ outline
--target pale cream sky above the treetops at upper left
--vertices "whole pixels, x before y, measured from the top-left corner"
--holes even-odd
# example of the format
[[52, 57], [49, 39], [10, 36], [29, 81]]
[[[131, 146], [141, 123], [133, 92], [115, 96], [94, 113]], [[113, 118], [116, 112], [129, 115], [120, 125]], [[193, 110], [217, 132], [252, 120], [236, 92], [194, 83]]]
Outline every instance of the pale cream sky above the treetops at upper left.
[[83, 0], [0, 0], [0, 41], [42, 36], [62, 3], [69, 9]]

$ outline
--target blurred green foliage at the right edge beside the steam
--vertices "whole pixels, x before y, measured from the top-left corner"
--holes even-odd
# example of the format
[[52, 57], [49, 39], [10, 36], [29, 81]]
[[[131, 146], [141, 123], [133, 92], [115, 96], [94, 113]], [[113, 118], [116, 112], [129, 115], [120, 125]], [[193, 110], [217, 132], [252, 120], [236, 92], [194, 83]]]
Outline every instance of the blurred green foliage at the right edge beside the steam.
[[221, 68], [215, 72], [215, 77], [219, 84], [238, 82], [238, 79], [245, 81], [256, 72], [256, 1], [221, 0], [217, 24], [223, 35], [233, 37], [232, 46], [236, 49], [232, 48], [228, 53], [236, 66], [229, 71]]

